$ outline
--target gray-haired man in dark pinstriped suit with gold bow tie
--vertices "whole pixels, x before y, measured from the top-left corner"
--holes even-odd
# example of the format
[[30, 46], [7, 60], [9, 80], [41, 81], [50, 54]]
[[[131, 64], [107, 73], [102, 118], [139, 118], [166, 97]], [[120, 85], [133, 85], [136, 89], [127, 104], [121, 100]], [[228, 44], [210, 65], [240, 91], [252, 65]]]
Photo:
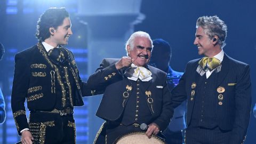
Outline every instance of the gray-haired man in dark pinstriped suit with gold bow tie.
[[173, 89], [173, 107], [187, 100], [185, 141], [241, 144], [251, 110], [250, 67], [223, 52], [227, 26], [217, 16], [200, 17], [194, 44], [204, 58], [188, 62]]

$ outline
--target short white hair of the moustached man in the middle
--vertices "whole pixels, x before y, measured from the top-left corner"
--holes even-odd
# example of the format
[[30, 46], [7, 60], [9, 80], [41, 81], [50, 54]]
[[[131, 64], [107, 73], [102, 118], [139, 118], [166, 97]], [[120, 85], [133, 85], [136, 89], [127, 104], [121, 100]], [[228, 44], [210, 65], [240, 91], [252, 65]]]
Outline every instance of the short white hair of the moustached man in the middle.
[[[151, 47], [152, 47], [152, 50], [153, 50], [153, 42], [152, 42], [152, 39], [150, 38], [149, 34], [144, 32], [144, 31], [136, 31], [134, 32], [130, 38], [127, 40], [127, 42], [125, 43], [125, 50], [126, 50], [126, 53], [128, 55], [128, 52], [127, 52], [127, 46], [129, 45], [130, 46], [130, 49], [131, 51], [133, 50], [133, 47], [134, 47], [134, 39], [135, 37], [146, 37], [149, 39], [149, 41], [151, 42]], [[152, 51], [151, 50], [151, 51]]]

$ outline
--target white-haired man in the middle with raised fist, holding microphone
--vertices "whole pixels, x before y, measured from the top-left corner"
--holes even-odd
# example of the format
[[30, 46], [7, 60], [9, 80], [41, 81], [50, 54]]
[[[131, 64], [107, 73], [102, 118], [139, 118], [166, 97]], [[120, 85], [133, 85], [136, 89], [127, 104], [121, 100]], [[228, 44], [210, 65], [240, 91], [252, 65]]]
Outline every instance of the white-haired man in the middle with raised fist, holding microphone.
[[127, 133], [157, 135], [173, 115], [166, 73], [148, 65], [153, 44], [149, 34], [137, 31], [126, 42], [128, 57], [103, 59], [88, 79], [90, 89], [105, 90], [97, 116], [105, 119], [94, 143], [113, 143]]

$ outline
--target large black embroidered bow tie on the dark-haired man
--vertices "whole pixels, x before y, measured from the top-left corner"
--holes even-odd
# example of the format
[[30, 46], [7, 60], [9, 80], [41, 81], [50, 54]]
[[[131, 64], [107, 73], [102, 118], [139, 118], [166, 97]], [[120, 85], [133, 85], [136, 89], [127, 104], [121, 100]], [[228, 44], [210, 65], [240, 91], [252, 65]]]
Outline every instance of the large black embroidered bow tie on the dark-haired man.
[[54, 47], [48, 52], [48, 55], [55, 65], [63, 65], [68, 60], [68, 52], [62, 47]]

